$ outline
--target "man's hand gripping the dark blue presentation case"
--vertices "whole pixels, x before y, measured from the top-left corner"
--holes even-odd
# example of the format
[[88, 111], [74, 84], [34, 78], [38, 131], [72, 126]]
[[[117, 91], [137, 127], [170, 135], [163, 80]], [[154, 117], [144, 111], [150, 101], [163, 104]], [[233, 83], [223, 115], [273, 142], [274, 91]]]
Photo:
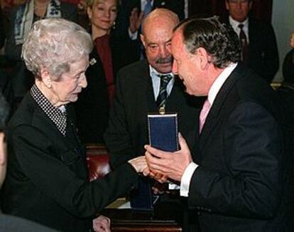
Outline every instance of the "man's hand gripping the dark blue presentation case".
[[[177, 152], [163, 152], [145, 145], [145, 157], [150, 172], [158, 176], [162, 174], [165, 179], [168, 177], [180, 181], [185, 169], [192, 162], [192, 157], [185, 139], [180, 134], [179, 141], [181, 149]], [[156, 179], [156, 177], [154, 178]]]

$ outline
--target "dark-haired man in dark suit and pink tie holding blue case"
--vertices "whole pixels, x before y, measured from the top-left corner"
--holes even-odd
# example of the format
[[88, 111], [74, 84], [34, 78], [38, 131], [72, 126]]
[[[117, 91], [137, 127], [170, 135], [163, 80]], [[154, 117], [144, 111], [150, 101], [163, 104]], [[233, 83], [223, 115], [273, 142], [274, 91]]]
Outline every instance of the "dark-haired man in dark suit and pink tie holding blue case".
[[180, 136], [181, 149], [173, 153], [146, 145], [148, 167], [180, 181], [200, 231], [287, 231], [283, 112], [276, 93], [239, 63], [236, 33], [216, 18], [180, 24], [172, 51], [173, 72], [187, 93], [207, 96], [199, 141], [189, 149]]

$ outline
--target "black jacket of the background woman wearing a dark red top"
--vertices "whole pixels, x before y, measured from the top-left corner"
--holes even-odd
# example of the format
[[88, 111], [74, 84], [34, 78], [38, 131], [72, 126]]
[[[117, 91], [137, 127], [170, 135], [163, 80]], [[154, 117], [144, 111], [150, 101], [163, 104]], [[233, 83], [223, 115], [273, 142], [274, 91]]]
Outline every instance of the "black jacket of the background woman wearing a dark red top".
[[[131, 41], [130, 38], [126, 40], [116, 38], [113, 33], [111, 33], [109, 42], [115, 81], [120, 68], [138, 60], [137, 53], [131, 53], [131, 51], [136, 51], [137, 43]], [[104, 143], [103, 135], [109, 119], [109, 97], [102, 60], [96, 48], [89, 55], [89, 60], [93, 59], [96, 60], [96, 63], [89, 65], [87, 69], [88, 85], [82, 90], [75, 103], [75, 112], [82, 142]]]

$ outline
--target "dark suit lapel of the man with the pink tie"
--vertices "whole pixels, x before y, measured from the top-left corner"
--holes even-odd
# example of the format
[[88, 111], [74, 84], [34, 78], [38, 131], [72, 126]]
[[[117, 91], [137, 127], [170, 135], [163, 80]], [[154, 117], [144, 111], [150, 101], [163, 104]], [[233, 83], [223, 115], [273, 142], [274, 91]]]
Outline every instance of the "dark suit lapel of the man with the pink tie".
[[227, 80], [224, 82], [224, 85], [222, 85], [222, 88], [219, 90], [219, 93], [217, 93], [217, 97], [215, 97], [214, 99], [212, 107], [210, 108], [207, 118], [205, 120], [205, 125], [200, 134], [200, 150], [202, 150], [202, 148], [205, 146], [207, 140], [209, 139], [209, 136], [212, 135], [214, 127], [217, 125], [217, 122], [219, 121], [219, 113], [222, 110], [222, 105], [226, 101], [227, 95], [234, 87], [236, 81], [243, 76], [242, 73], [244, 73], [243, 65], [239, 64], [231, 73], [231, 75], [229, 75], [229, 78], [227, 78]]

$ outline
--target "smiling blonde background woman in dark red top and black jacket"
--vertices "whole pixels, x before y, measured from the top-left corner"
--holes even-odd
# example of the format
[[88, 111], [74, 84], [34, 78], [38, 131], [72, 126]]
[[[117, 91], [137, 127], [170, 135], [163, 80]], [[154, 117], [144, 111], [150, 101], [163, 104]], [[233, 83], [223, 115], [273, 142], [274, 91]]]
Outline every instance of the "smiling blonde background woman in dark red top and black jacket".
[[104, 142], [102, 136], [108, 124], [109, 106], [114, 99], [116, 73], [124, 65], [138, 60], [134, 52], [138, 43], [114, 33], [119, 2], [87, 1], [94, 49], [86, 72], [88, 87], [82, 91], [75, 105], [82, 142]]

